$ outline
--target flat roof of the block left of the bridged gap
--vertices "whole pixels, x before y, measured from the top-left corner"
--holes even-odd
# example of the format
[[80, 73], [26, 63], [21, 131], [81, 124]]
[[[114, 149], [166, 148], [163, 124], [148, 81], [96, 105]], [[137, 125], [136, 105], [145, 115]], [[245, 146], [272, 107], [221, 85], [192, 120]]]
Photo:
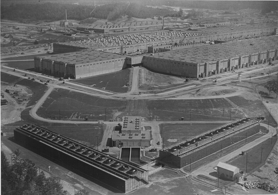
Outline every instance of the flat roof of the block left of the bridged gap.
[[49, 56], [38, 56], [46, 60], [59, 61], [70, 64], [93, 63], [97, 61], [113, 60], [118, 58], [126, 58], [126, 56], [102, 52], [102, 51], [77, 51], [64, 54], [53, 54]]

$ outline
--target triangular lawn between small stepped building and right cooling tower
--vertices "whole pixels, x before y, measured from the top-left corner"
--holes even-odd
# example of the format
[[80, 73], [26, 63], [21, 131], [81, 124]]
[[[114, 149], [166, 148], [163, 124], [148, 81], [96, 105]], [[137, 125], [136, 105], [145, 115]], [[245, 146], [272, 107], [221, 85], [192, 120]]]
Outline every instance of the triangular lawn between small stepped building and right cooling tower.
[[224, 124], [225, 123], [163, 123], [159, 125], [159, 128], [160, 132], [162, 132], [161, 137], [164, 138], [164, 147], [167, 147]]

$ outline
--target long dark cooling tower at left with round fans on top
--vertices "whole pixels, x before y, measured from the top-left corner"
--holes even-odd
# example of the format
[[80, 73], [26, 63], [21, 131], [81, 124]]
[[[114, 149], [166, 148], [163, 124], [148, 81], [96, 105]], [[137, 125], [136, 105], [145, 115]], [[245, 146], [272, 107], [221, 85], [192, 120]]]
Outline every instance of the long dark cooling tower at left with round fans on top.
[[127, 193], [148, 183], [148, 171], [37, 125], [14, 130], [23, 147], [98, 184]]

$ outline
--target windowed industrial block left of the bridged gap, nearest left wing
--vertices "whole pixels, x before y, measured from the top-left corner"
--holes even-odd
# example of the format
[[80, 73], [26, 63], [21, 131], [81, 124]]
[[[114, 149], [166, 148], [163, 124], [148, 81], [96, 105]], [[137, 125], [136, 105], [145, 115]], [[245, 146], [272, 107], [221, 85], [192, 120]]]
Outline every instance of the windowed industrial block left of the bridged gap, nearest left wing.
[[126, 56], [88, 50], [34, 57], [35, 71], [73, 79], [122, 70], [126, 61]]

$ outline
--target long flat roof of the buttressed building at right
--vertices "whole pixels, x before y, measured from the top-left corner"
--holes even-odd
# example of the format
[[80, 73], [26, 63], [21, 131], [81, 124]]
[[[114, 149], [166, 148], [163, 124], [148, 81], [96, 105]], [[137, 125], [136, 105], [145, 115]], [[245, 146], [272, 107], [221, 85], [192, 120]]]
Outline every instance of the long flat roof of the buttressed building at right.
[[236, 42], [225, 42], [202, 47], [173, 50], [156, 53], [148, 58], [167, 59], [188, 63], [204, 63], [206, 61], [234, 58], [249, 55], [260, 51], [278, 48], [278, 36], [269, 36], [255, 39], [245, 39]]

